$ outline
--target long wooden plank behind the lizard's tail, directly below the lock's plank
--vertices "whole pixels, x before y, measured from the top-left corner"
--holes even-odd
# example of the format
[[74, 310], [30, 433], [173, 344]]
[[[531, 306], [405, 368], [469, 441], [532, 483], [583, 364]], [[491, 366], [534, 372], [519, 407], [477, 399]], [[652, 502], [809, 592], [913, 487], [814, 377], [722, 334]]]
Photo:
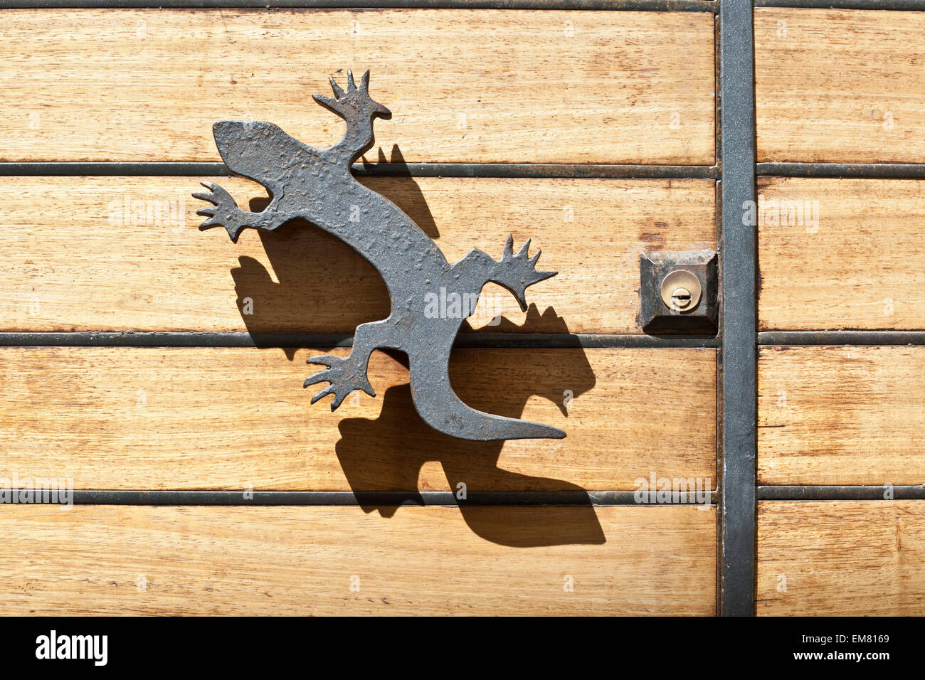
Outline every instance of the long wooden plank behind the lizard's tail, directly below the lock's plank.
[[652, 473], [715, 479], [711, 349], [453, 352], [463, 401], [568, 434], [503, 446], [426, 426], [407, 370], [382, 352], [369, 371], [379, 396], [354, 392], [333, 414], [329, 398], [310, 405], [302, 381], [315, 367], [304, 360], [321, 352], [3, 348], [0, 471], [128, 489], [606, 490]]

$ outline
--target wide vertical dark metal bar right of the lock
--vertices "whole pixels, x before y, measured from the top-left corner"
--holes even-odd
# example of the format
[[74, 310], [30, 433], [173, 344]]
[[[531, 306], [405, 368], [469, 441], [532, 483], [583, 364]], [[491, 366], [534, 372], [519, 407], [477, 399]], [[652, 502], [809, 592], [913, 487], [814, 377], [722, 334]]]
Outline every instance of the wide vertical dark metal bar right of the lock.
[[752, 0], [721, 0], [723, 616], [754, 614], [756, 334], [755, 68]]

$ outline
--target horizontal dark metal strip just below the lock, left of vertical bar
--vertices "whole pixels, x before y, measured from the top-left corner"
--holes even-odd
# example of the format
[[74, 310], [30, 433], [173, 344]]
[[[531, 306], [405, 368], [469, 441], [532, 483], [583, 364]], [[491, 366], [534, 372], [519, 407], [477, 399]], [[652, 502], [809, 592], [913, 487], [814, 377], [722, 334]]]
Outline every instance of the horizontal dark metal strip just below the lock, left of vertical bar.
[[[0, 346], [24, 347], [351, 347], [349, 333], [94, 332], [0, 333]], [[457, 347], [619, 348], [718, 347], [715, 337], [586, 335], [551, 333], [461, 333]]]

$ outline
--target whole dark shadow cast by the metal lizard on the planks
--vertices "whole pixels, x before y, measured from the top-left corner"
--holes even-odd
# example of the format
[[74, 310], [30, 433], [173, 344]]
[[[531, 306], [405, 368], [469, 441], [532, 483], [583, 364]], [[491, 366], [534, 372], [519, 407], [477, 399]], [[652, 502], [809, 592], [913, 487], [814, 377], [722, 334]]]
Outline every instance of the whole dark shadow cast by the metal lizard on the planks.
[[[379, 151], [379, 162], [385, 155]], [[398, 147], [393, 147], [391, 164], [401, 165]], [[364, 176], [367, 186], [385, 195], [413, 218], [431, 238], [439, 236], [427, 207], [424, 193], [410, 170], [392, 177]], [[257, 212], [268, 203], [255, 198], [250, 210]], [[342, 332], [364, 322], [388, 315], [389, 300], [385, 283], [376, 269], [349, 245], [306, 222], [292, 223], [273, 232], [257, 231], [266, 257], [276, 274], [253, 257], [241, 256], [240, 266], [231, 270], [238, 306], [245, 328], [258, 347], [279, 347], [279, 332]], [[307, 264], [306, 264], [307, 263]], [[351, 273], [350, 280], [344, 277]], [[337, 301], [350, 300], [349, 305]], [[337, 309], [332, 315], [332, 304]], [[469, 332], [467, 332], [469, 331]], [[502, 317], [499, 325], [471, 331], [463, 324], [461, 333], [470, 337], [479, 332], [543, 332], [569, 335], [565, 320], [551, 307], [540, 314], [531, 305], [523, 325]], [[349, 338], [350, 334], [344, 335]], [[292, 361], [294, 349], [282, 349]], [[522, 355], [543, 350], [522, 349]], [[546, 350], [545, 352], [550, 352]], [[551, 352], [559, 352], [552, 350]], [[387, 352], [407, 367], [402, 352]], [[467, 361], [467, 356], [477, 356]], [[450, 360], [450, 381], [463, 402], [492, 414], [519, 418], [526, 403], [540, 396], [555, 403], [568, 415], [563, 391], [573, 398], [595, 385], [595, 376], [585, 351], [577, 340], [573, 351], [561, 353], [563, 361], [544, 362], [541, 368], [512, 371], [510, 353], [505, 350], [454, 350]], [[529, 358], [522, 365], [530, 365]], [[469, 374], [483, 377], [477, 389]], [[308, 370], [306, 375], [311, 371]], [[484, 389], [484, 385], [492, 389]], [[364, 512], [390, 517], [403, 504], [423, 504], [417, 490], [422, 467], [432, 461], [442, 465], [450, 489], [465, 485], [467, 500], [459, 500], [463, 521], [475, 535], [512, 547], [605, 542], [597, 513], [584, 488], [560, 479], [529, 476], [499, 467], [502, 441], [455, 439], [427, 426], [413, 407], [410, 386], [393, 385], [381, 394], [382, 408], [375, 419], [344, 418], [339, 422], [340, 439], [335, 446], [339, 464]], [[318, 404], [317, 408], [324, 407]], [[566, 424], [567, 427], [567, 424]], [[562, 443], [566, 442], [566, 443]], [[556, 440], [564, 447], [568, 439]], [[536, 451], [542, 444], [536, 443]], [[526, 445], [529, 451], [531, 443]], [[395, 495], [396, 489], [413, 489]], [[567, 497], [568, 505], [538, 509], [523, 505], [479, 505], [486, 491], [545, 491]], [[383, 502], [382, 491], [388, 491]], [[458, 495], [458, 492], [457, 492]], [[471, 499], [471, 501], [470, 501]], [[467, 502], [468, 501], [468, 502]]]

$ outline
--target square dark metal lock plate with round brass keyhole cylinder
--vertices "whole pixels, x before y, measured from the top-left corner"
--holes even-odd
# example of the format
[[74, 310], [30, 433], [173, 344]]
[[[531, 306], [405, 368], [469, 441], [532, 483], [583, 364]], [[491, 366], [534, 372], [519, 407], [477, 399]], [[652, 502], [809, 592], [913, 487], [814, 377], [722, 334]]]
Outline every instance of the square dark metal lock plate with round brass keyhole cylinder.
[[713, 251], [642, 253], [639, 326], [647, 333], [715, 333], [717, 255]]

